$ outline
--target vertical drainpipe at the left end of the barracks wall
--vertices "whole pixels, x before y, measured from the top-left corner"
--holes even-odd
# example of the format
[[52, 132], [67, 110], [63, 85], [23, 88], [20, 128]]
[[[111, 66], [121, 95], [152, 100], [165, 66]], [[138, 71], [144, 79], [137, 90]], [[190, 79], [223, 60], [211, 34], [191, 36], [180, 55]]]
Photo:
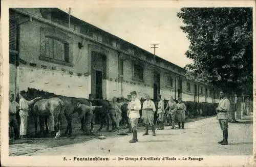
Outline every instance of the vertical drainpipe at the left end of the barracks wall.
[[[17, 27], [16, 27], [16, 31], [17, 31], [17, 36], [16, 36], [16, 49], [17, 49], [17, 54], [16, 54], [16, 61], [15, 61], [15, 69], [16, 69], [16, 72], [15, 72], [15, 78], [16, 78], [16, 81], [15, 81], [15, 97], [18, 93], [17, 91], [17, 85], [19, 84], [19, 68], [17, 68], [19, 66], [19, 42], [20, 42], [20, 25], [22, 24], [25, 24], [25, 23], [28, 23], [28, 22], [32, 22], [32, 17], [29, 16], [29, 19], [26, 20], [26, 21], [23, 21], [23, 22], [20, 22], [17, 24]], [[16, 97], [17, 98], [17, 97]]]

